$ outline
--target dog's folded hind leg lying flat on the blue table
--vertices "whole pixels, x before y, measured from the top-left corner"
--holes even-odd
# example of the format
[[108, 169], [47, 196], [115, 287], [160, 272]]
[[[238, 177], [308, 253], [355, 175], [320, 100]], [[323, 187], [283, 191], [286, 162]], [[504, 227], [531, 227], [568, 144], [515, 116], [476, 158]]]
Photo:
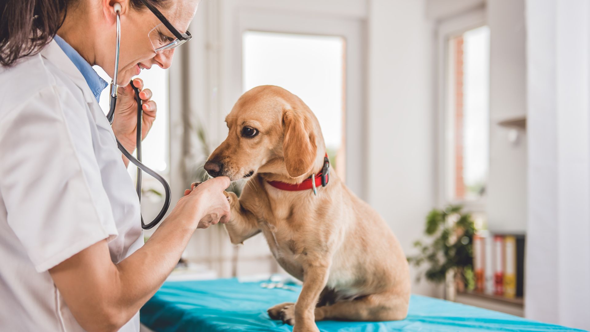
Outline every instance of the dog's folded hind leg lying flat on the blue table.
[[407, 296], [391, 292], [371, 294], [352, 301], [317, 307], [316, 320], [388, 321], [402, 320], [408, 314]]

